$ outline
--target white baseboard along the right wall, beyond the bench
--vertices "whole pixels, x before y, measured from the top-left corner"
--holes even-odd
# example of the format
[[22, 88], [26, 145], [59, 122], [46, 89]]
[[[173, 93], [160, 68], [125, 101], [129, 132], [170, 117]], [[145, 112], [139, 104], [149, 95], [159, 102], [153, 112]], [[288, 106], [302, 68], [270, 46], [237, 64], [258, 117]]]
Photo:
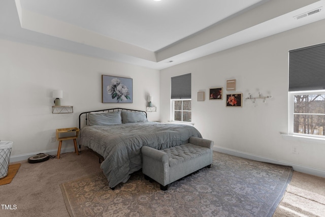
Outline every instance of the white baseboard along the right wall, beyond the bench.
[[221, 153], [226, 153], [226, 154], [229, 154], [232, 156], [240, 157], [240, 158], [250, 159], [253, 161], [261, 161], [261, 162], [267, 162], [267, 163], [272, 163], [272, 164], [291, 166], [297, 172], [302, 172], [302, 173], [306, 173], [306, 174], [310, 174], [310, 175], [325, 177], [325, 171], [302, 166], [299, 164], [293, 164], [293, 163], [289, 163], [289, 162], [285, 162], [285, 161], [278, 161], [275, 159], [265, 158], [265, 157], [257, 156], [257, 155], [251, 154], [251, 153], [246, 153], [246, 152], [242, 152], [242, 151], [238, 151], [238, 150], [234, 150], [234, 149], [230, 149], [230, 148], [224, 148], [224, 147], [220, 147], [220, 146], [213, 146], [213, 150], [221, 152]]

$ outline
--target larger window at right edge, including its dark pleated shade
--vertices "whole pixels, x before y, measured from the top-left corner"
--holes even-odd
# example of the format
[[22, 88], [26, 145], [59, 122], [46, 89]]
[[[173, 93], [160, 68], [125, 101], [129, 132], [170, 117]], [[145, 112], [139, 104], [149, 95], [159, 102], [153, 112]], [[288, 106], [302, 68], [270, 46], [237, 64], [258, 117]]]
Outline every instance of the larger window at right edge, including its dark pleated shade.
[[289, 51], [289, 133], [325, 138], [325, 43]]

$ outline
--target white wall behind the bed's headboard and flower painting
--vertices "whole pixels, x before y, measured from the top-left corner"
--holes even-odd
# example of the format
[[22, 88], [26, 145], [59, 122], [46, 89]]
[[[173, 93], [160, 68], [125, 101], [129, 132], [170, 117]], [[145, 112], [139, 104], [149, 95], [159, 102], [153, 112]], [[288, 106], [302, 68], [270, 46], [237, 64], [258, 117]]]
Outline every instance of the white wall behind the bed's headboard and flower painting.
[[[123, 107], [146, 110], [149, 93], [159, 107], [159, 71], [0, 40], [0, 140], [13, 141], [11, 162], [35, 153], [56, 154], [50, 142], [55, 129], [78, 127], [81, 112]], [[103, 104], [102, 75], [133, 79], [133, 103]], [[63, 90], [61, 105], [72, 105], [71, 114], [52, 114], [52, 90]], [[159, 120], [148, 112], [149, 120]], [[73, 150], [63, 141], [62, 152]]]

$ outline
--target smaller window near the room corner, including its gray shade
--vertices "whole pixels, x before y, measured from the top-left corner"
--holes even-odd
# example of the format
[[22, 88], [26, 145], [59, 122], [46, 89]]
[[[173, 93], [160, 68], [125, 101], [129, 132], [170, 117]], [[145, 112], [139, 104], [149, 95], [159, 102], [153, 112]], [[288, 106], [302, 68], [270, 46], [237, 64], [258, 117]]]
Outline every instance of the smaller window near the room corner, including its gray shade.
[[191, 74], [172, 77], [171, 84], [172, 121], [191, 122]]

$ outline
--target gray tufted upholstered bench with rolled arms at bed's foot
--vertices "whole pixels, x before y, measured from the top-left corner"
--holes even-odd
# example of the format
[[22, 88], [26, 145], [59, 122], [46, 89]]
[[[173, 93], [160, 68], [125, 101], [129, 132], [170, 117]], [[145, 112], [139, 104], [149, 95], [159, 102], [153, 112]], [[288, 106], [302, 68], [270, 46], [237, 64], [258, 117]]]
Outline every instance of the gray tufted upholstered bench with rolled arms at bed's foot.
[[190, 137], [189, 143], [157, 150], [142, 146], [142, 172], [166, 191], [168, 184], [212, 164], [213, 141]]

